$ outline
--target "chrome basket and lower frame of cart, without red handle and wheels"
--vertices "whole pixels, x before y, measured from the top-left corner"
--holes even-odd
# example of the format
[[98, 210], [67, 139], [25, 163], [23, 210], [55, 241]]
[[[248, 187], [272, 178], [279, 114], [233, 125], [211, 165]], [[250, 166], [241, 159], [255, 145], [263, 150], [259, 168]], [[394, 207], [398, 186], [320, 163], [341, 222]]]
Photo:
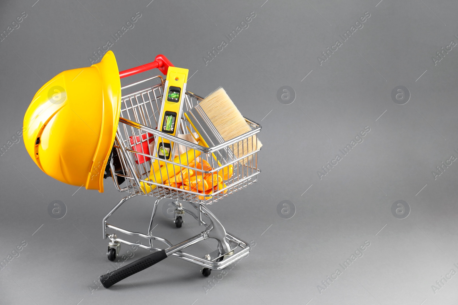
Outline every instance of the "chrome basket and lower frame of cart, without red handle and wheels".
[[[136, 246], [150, 251], [162, 250], [162, 248], [153, 246], [153, 240], [160, 241], [165, 244], [164, 249], [166, 252], [169, 250], [170, 255], [184, 259], [188, 262], [193, 262], [203, 268], [215, 270], [225, 268], [236, 260], [248, 255], [251, 246], [247, 242], [242, 241], [234, 235], [226, 232], [223, 225], [221, 225], [216, 216], [213, 215], [213, 213], [211, 213], [205, 205], [217, 202], [218, 200], [256, 182], [257, 175], [260, 172], [257, 168], [257, 152], [260, 150], [260, 148], [257, 147], [257, 133], [261, 130], [261, 126], [245, 118], [245, 121], [251, 127], [251, 131], [211, 148], [206, 148], [185, 139], [163, 133], [155, 128], [161, 123], [158, 122], [158, 115], [161, 109], [164, 79], [159, 75], [153, 76], [134, 84], [124, 86], [121, 89], [125, 90], [127, 88], [139, 86], [146, 82], [156, 83], [153, 85], [150, 84], [150, 86], [145, 89], [135, 91], [121, 97], [120, 123], [118, 125], [114, 141], [114, 149], [117, 150], [121, 169], [115, 168], [113, 160], [110, 161], [109, 167], [115, 187], [118, 191], [129, 193], [129, 195], [122, 198], [120, 202], [117, 203], [104, 217], [103, 237], [104, 239], [109, 238], [112, 243], [124, 243], [129, 246]], [[186, 91], [183, 112], [191, 109], [200, 101], [202, 101], [202, 97]], [[193, 130], [191, 124], [187, 122], [184, 116], [180, 118], [180, 122], [179, 134], [189, 134], [190, 131]], [[154, 139], [154, 143], [156, 143], [156, 141], [160, 138], [168, 139], [170, 142], [174, 143], [174, 149], [171, 151], [171, 156], [179, 156], [180, 162], [174, 162], [174, 158], [170, 158], [170, 161], [159, 159], [157, 157], [157, 153], [150, 153], [149, 150], [145, 151], [143, 149], [145, 141], [149, 142]], [[157, 162], [160, 160], [161, 162], [165, 162], [166, 165], [171, 165], [171, 168], [180, 166], [180, 171], [186, 168], [195, 170], [194, 167], [187, 165], [189, 164], [189, 160], [181, 162], [180, 155], [183, 151], [186, 152], [188, 150], [198, 151], [200, 153], [201, 160], [206, 160], [212, 167], [211, 171], [199, 170], [199, 172], [201, 172], [199, 175], [202, 175], [202, 179], [205, 174], [214, 174], [217, 171], [219, 174], [220, 171], [229, 171], [229, 166], [233, 167], [233, 176], [226, 177], [227, 179], [224, 179], [223, 186], [215, 186], [212, 184], [213, 193], [206, 194], [205, 198], [203, 198], [202, 193], [198, 193], [197, 190], [196, 192], [187, 191], [178, 187], [170, 185], [165, 186], [162, 183], [156, 183], [149, 180], [150, 175], [153, 174], [151, 169], [154, 161]], [[167, 177], [162, 177], [162, 173], [160, 175], [160, 177], [154, 176], [153, 180], [162, 182], [169, 179], [169, 177], [176, 177], [174, 174], [169, 175], [169, 172], [167, 172]], [[125, 178], [125, 182], [119, 183], [117, 177]], [[125, 185], [121, 186], [120, 184]], [[153, 188], [153, 190], [149, 192], [143, 191], [141, 186], [144, 187], [145, 185]], [[137, 195], [147, 195], [157, 198], [153, 205], [147, 234], [131, 232], [107, 223], [108, 218], [114, 214], [114, 212], [119, 209], [123, 203], [133, 197], [136, 197]], [[191, 237], [190, 239], [177, 245], [173, 245], [170, 241], [164, 238], [154, 236], [152, 234], [154, 216], [157, 212], [158, 203], [164, 198], [173, 199], [176, 208], [181, 209], [187, 214], [191, 214], [197, 220], [198, 224], [204, 225], [206, 229], [202, 231], [201, 234]], [[179, 205], [178, 200], [191, 204], [192, 208], [194, 208], [196, 212], [192, 209], [186, 209], [181, 204]], [[209, 223], [203, 221], [202, 216], [207, 217], [209, 219]], [[146, 239], [148, 243], [144, 245], [142, 243], [132, 243], [130, 241], [126, 241], [118, 238], [116, 235], [108, 234], [107, 228], [126, 235], [142, 237]], [[213, 257], [197, 257], [193, 254], [182, 251], [186, 246], [207, 238], [214, 238], [218, 241], [218, 251], [216, 255], [213, 255]], [[170, 249], [174, 250], [171, 251]], [[176, 249], [180, 250], [176, 251]]]

